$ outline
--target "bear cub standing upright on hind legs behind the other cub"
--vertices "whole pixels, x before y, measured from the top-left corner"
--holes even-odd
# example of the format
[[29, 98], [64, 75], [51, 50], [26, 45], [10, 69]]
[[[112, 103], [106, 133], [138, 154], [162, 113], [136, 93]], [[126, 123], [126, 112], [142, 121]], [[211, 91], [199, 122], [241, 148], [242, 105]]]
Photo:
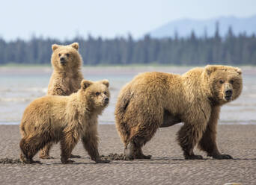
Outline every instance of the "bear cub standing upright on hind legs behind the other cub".
[[[79, 54], [79, 43], [67, 46], [52, 45], [53, 72], [48, 85], [47, 95], [70, 95], [77, 92], [83, 79], [81, 66], [82, 57]], [[39, 154], [42, 159], [52, 158], [49, 156], [52, 143], [46, 145]], [[71, 154], [70, 157], [79, 157]]]

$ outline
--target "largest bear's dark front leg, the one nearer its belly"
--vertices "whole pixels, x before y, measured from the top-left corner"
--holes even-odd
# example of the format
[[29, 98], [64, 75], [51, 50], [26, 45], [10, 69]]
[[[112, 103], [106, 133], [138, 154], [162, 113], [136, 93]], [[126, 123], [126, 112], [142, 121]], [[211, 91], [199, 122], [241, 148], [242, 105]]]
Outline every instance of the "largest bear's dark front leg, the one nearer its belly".
[[183, 149], [183, 155], [186, 160], [202, 160], [201, 155], [194, 154], [194, 147], [198, 143], [198, 140], [201, 139], [203, 133], [203, 128], [198, 128], [193, 125], [186, 124], [180, 128], [177, 134], [177, 140]]

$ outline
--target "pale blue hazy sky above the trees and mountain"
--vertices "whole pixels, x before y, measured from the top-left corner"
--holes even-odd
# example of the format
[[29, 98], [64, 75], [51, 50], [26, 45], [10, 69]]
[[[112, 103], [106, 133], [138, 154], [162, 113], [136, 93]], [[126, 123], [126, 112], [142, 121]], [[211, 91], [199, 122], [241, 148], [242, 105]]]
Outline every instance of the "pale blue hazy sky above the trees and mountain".
[[173, 20], [246, 17], [256, 14], [255, 7], [255, 0], [9, 0], [1, 1], [0, 37], [141, 37]]

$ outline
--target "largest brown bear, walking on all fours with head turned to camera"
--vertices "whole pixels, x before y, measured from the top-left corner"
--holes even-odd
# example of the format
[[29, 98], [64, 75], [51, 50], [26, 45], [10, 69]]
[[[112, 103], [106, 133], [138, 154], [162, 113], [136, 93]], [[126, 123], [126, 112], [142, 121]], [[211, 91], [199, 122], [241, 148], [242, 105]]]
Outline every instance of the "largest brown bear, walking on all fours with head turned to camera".
[[241, 69], [232, 66], [195, 68], [183, 75], [145, 72], [120, 92], [115, 108], [116, 128], [128, 158], [150, 158], [141, 147], [156, 130], [179, 122], [177, 134], [185, 159], [202, 159], [193, 148], [198, 144], [208, 156], [231, 159], [216, 145], [220, 107], [242, 91]]

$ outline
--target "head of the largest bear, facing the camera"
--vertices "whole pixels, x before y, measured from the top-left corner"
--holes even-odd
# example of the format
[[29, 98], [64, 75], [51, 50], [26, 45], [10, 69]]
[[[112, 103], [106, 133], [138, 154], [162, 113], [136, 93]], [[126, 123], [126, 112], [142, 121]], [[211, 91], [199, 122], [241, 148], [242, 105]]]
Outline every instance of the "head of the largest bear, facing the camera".
[[225, 104], [236, 99], [242, 92], [243, 81], [240, 68], [232, 66], [208, 65], [204, 69], [210, 98], [217, 104]]

